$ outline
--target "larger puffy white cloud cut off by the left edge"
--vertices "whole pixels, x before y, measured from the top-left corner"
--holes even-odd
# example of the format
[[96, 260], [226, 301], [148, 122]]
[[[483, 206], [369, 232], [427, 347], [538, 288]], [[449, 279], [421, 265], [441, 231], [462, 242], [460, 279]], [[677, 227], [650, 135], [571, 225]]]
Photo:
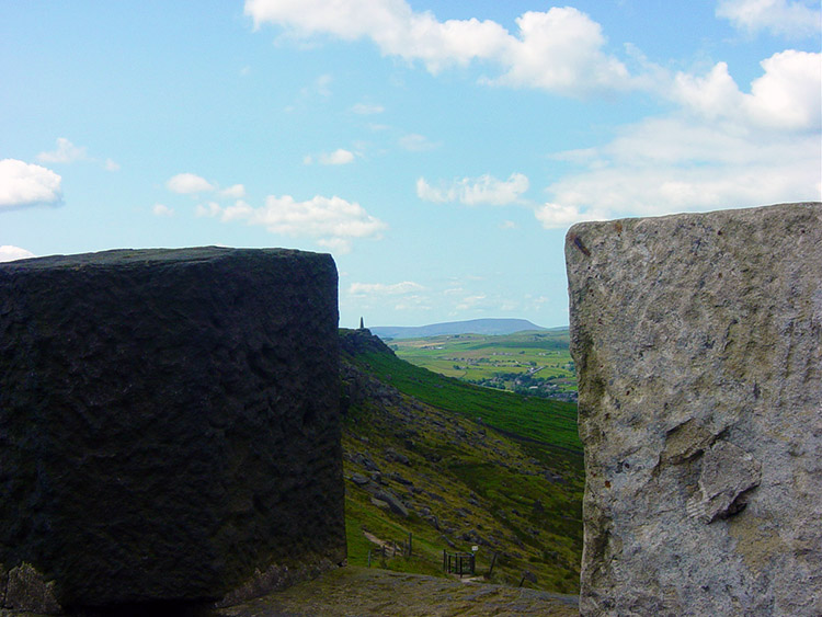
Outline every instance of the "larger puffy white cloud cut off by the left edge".
[[61, 178], [41, 165], [16, 159], [0, 160], [0, 209], [57, 205]]

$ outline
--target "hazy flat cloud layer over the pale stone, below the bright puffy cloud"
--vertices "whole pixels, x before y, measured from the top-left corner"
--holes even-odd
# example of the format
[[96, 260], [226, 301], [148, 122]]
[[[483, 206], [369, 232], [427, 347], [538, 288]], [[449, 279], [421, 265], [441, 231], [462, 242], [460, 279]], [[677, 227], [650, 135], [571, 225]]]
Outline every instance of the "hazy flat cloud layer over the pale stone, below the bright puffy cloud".
[[548, 186], [545, 227], [621, 216], [822, 199], [815, 132], [739, 130], [693, 118], [650, 118], [589, 152], [586, 170]]

